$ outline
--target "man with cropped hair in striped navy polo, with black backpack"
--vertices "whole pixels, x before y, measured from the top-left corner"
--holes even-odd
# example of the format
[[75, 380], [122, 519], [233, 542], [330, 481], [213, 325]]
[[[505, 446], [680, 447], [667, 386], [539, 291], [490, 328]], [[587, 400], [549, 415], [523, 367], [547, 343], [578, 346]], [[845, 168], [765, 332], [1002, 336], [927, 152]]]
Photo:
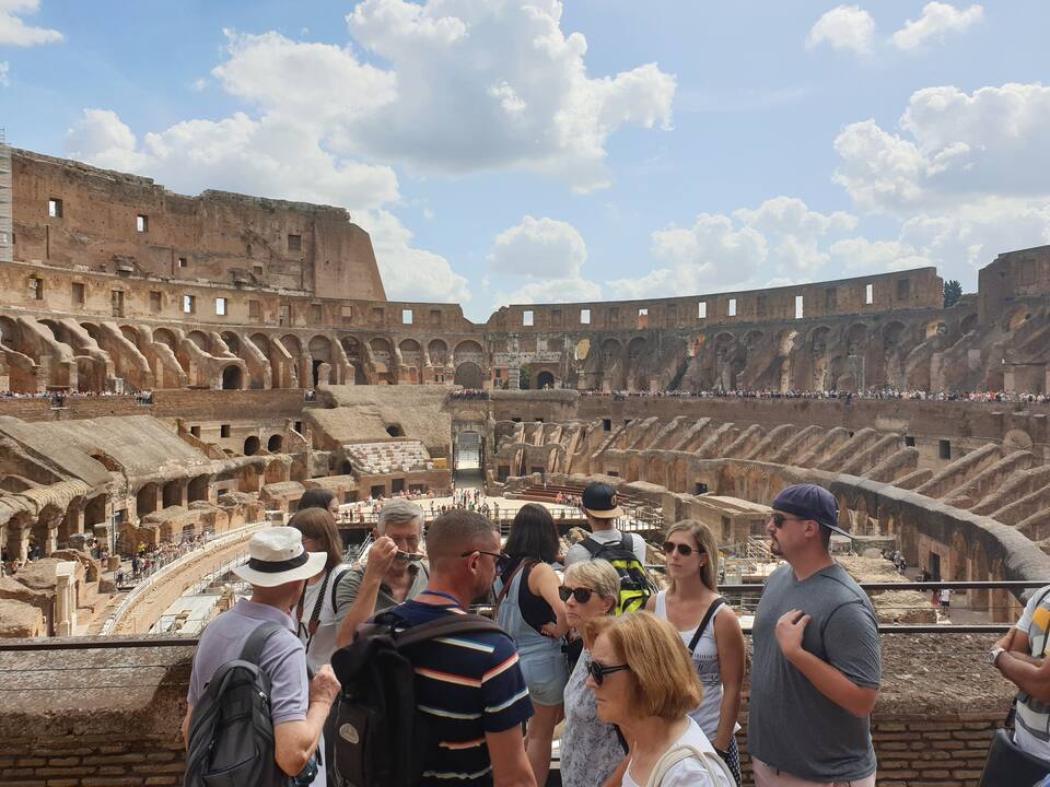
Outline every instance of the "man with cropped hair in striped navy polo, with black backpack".
[[340, 787], [535, 787], [522, 725], [533, 715], [513, 641], [468, 613], [506, 557], [492, 524], [450, 510], [427, 531], [430, 580], [377, 614], [332, 667]]

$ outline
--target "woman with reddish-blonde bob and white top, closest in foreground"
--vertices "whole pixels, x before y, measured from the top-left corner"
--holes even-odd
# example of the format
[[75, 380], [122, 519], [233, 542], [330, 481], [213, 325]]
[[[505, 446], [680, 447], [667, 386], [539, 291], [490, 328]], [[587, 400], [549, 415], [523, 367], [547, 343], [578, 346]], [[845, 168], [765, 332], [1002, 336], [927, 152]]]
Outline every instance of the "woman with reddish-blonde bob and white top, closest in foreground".
[[598, 718], [630, 744], [622, 787], [733, 787], [733, 774], [688, 715], [703, 689], [674, 626], [632, 612], [595, 618], [585, 634]]

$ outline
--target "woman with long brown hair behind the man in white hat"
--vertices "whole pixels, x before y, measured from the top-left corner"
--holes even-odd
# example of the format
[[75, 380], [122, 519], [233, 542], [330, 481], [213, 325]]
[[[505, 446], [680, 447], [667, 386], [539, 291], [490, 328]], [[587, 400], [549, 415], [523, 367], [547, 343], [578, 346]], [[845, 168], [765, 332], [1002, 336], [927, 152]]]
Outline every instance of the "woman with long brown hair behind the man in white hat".
[[342, 563], [342, 542], [336, 520], [327, 508], [300, 508], [288, 526], [303, 533], [307, 552], [328, 555], [325, 569], [306, 583], [303, 597], [293, 610], [299, 622], [299, 638], [306, 646], [306, 663], [315, 672], [331, 661], [336, 650], [336, 610], [332, 588], [349, 566]]

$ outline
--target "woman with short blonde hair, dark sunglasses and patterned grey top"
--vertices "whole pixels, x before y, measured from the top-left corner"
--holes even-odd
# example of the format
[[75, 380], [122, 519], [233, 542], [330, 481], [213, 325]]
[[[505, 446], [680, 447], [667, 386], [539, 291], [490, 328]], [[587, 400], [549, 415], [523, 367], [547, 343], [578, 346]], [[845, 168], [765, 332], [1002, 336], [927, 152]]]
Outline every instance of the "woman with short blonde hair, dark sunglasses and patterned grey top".
[[570, 631], [581, 637], [583, 644], [565, 684], [561, 784], [563, 787], [602, 787], [622, 762], [626, 750], [616, 727], [598, 719], [594, 692], [586, 686], [591, 643], [584, 637], [584, 631], [595, 618], [611, 615], [616, 610], [620, 575], [608, 561], [573, 563], [565, 569], [559, 592], [565, 601]]

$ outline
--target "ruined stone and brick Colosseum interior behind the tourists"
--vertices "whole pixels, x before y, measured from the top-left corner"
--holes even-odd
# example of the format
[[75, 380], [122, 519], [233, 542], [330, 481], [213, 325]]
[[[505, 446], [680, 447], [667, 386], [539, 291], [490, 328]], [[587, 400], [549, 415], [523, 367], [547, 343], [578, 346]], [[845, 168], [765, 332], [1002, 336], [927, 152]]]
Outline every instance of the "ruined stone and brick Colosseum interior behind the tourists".
[[[443, 493], [469, 451], [491, 495], [604, 478], [726, 545], [813, 481], [859, 551], [1050, 577], [1050, 247], [1004, 251], [950, 308], [923, 268], [474, 324], [388, 301], [342, 209], [3, 148], [0, 287], [0, 544], [24, 564], [0, 577], [4, 784], [178, 784], [195, 639], [147, 635], [161, 612], [306, 489]], [[118, 586], [139, 544], [202, 536]], [[968, 607], [1003, 625], [1022, 592]], [[1010, 697], [992, 638], [884, 634], [885, 784], [976, 783]]]

